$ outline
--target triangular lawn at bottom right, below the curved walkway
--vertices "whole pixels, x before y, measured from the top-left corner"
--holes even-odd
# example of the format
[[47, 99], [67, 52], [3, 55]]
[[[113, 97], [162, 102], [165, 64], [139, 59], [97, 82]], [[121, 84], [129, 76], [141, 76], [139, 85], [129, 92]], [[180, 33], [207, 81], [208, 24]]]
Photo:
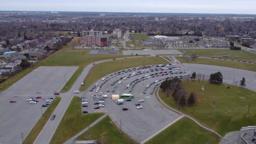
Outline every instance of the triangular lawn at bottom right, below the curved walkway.
[[219, 137], [201, 128], [189, 118], [182, 118], [178, 122], [172, 124], [164, 131], [150, 139], [146, 144], [150, 143], [219, 143]]

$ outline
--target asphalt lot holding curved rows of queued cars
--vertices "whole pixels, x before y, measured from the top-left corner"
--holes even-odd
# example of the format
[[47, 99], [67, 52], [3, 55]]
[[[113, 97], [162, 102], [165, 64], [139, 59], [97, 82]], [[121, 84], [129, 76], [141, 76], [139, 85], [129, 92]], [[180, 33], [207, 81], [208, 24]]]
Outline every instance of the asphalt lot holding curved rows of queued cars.
[[[173, 68], [178, 68], [179, 66], [173, 66]], [[155, 67], [155, 68], [139, 68], [136, 70], [128, 69], [121, 70], [117, 72], [117, 76], [110, 78], [110, 74], [108, 75], [107, 82], [106, 80], [98, 80], [91, 87], [88, 88], [88, 92], [80, 93], [80, 97], [86, 97], [88, 99], [88, 106], [82, 107], [83, 111], [91, 112], [108, 112], [110, 117], [114, 119], [115, 123], [122, 131], [125, 131], [126, 134], [129, 134], [133, 139], [138, 142], [147, 139], [150, 135], [154, 134], [159, 129], [165, 127], [168, 123], [171, 123], [174, 119], [178, 118], [180, 115], [174, 113], [164, 106], [162, 106], [158, 100], [155, 98], [154, 87], [156, 84], [160, 85], [160, 82], [164, 81], [167, 77], [175, 77], [181, 76], [187, 73], [183, 69], [173, 69], [170, 70], [168, 68], [171, 67]], [[148, 70], [147, 70], [148, 69]], [[152, 69], [152, 70], [150, 70]], [[157, 70], [156, 70], [157, 69]], [[166, 70], [161, 70], [166, 69]], [[177, 72], [174, 72], [176, 71]], [[122, 72], [123, 71], [123, 72]], [[126, 72], [127, 71], [127, 72]], [[138, 71], [143, 71], [144, 73], [138, 73]], [[170, 73], [170, 71], [172, 71]], [[138, 75], [131, 76], [132, 73], [136, 73]], [[158, 73], [158, 74], [156, 74]], [[161, 74], [159, 74], [161, 73]], [[177, 73], [177, 74], [175, 74]], [[118, 75], [119, 74], [119, 75]], [[152, 75], [153, 74], [153, 75]], [[129, 77], [130, 75], [130, 77]], [[146, 75], [152, 75], [151, 77], [146, 79]], [[107, 77], [107, 76], [106, 76]], [[121, 79], [123, 77], [123, 79]], [[127, 79], [124, 80], [124, 77]], [[121, 80], [120, 80], [121, 79]], [[156, 82], [158, 80], [158, 82]], [[159, 81], [161, 80], [161, 81]], [[121, 81], [119, 84], [118, 82]], [[134, 82], [133, 82], [134, 81]], [[92, 89], [95, 84], [98, 86], [102, 85], [101, 88], [96, 93], [97, 87]], [[113, 85], [114, 83], [114, 85]], [[144, 89], [150, 84], [147, 90], [144, 93]], [[126, 89], [127, 85], [130, 86]], [[132, 91], [131, 87], [133, 86]], [[116, 88], [114, 88], [116, 87]], [[114, 90], [114, 92], [112, 92]], [[109, 91], [109, 92], [108, 92]], [[134, 99], [131, 101], [124, 101], [123, 105], [117, 105], [114, 100], [110, 98], [112, 94], [121, 94], [121, 93], [131, 93], [135, 95]], [[108, 95], [108, 98], [105, 99], [104, 107], [100, 107], [100, 109], [94, 109], [94, 107], [98, 105], [94, 105], [94, 103], [98, 102], [98, 100], [94, 100], [92, 95]], [[135, 104], [138, 104], [138, 100], [143, 99], [144, 102], [140, 103], [143, 106], [143, 109], [137, 109]], [[126, 100], [126, 99], [124, 99]], [[127, 108], [129, 110], [123, 111], [123, 108]], [[120, 122], [121, 121], [121, 122]]]

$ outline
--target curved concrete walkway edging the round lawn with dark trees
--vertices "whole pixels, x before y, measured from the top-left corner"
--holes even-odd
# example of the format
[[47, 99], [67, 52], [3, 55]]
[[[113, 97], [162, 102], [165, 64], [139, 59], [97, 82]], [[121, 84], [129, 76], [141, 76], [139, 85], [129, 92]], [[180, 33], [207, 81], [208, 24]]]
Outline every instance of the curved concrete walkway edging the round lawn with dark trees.
[[224, 139], [224, 137], [223, 137], [222, 135], [220, 135], [219, 133], [217, 133], [216, 131], [214, 131], [214, 130], [212, 130], [212, 129], [210, 129], [210, 128], [205, 127], [204, 125], [202, 125], [201, 123], [199, 123], [198, 121], [196, 121], [195, 118], [190, 117], [190, 116], [188, 116], [188, 115], [185, 115], [184, 113], [179, 112], [178, 110], [173, 109], [172, 107], [170, 107], [170, 106], [168, 106], [167, 104], [165, 104], [165, 102], [162, 101], [162, 99], [159, 97], [159, 89], [158, 89], [158, 91], [156, 92], [156, 95], [157, 95], [157, 98], [159, 99], [159, 101], [160, 101], [162, 104], [164, 104], [166, 107], [168, 107], [169, 109], [171, 109], [171, 110], [173, 110], [173, 111], [175, 111], [175, 112], [178, 112], [179, 114], [184, 115], [185, 117], [188, 117], [189, 119], [191, 119], [192, 121], [194, 121], [196, 124], [198, 124], [200, 127], [204, 128], [204, 129], [206, 129], [206, 130], [208, 130], [208, 131], [211, 131], [212, 133], [218, 135], [220, 138]]

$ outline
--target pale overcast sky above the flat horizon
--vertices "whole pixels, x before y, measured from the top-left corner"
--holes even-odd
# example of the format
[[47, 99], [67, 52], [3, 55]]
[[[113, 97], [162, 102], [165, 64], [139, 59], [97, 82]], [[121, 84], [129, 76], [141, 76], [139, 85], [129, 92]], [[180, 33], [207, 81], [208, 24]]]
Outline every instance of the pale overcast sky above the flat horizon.
[[256, 14], [256, 0], [1, 0], [0, 10]]

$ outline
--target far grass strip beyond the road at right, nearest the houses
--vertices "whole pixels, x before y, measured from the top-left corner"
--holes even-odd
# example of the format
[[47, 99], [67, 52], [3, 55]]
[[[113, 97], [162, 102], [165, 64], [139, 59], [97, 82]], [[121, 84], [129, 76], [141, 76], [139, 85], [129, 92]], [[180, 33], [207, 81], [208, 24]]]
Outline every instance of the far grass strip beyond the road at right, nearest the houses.
[[225, 57], [226, 59], [236, 59], [241, 61], [256, 62], [256, 54], [245, 50], [234, 51], [234, 50], [201, 50], [201, 49], [178, 49], [180, 52], [185, 52], [184, 55], [191, 55], [196, 53], [197, 56], [202, 57]]

